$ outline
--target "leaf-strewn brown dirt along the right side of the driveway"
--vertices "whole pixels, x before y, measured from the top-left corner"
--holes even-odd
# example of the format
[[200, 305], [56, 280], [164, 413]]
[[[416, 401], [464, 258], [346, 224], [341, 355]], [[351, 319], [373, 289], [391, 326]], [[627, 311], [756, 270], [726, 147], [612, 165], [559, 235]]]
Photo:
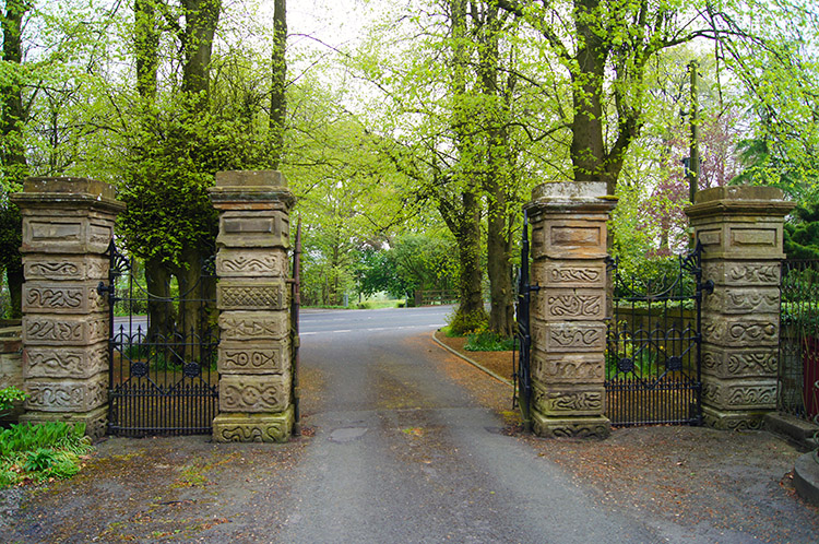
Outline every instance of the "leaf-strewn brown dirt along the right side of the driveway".
[[[462, 339], [446, 340], [459, 348], [452, 341]], [[474, 352], [463, 353], [475, 358]], [[489, 368], [503, 368], [507, 360], [502, 353], [482, 354]], [[651, 512], [674, 540], [690, 540], [692, 533], [685, 531], [696, 528], [712, 542], [745, 542], [749, 535], [761, 542], [816, 542], [819, 509], [804, 502], [792, 482], [803, 452], [774, 435], [646, 426], [613, 429], [605, 440], [537, 438], [520, 434], [517, 414], [509, 412], [509, 387], [454, 356], [444, 370], [505, 416], [506, 434], [562, 466], [602, 504], [634, 517]]]

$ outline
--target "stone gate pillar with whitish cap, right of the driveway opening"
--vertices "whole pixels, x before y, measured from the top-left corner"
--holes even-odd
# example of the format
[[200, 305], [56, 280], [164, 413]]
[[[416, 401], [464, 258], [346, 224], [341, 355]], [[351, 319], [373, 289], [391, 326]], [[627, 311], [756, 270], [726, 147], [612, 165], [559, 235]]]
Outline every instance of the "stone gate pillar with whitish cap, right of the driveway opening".
[[532, 419], [539, 436], [608, 435], [605, 182], [553, 182], [532, 191]]

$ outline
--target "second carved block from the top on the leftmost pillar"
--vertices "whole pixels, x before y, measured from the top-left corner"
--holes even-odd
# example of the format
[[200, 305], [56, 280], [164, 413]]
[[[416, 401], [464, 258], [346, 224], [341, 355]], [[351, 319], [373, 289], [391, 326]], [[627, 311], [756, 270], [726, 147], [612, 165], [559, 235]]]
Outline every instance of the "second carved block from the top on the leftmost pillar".
[[106, 310], [96, 284], [28, 281], [23, 285], [24, 312], [79, 315]]

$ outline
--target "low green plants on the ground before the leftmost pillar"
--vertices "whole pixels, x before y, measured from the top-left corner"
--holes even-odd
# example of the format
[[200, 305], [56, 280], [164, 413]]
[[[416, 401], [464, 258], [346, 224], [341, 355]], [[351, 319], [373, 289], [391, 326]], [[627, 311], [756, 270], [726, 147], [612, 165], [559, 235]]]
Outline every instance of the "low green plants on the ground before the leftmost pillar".
[[11, 425], [0, 431], [0, 488], [71, 477], [80, 471], [80, 456], [91, 450], [84, 424]]

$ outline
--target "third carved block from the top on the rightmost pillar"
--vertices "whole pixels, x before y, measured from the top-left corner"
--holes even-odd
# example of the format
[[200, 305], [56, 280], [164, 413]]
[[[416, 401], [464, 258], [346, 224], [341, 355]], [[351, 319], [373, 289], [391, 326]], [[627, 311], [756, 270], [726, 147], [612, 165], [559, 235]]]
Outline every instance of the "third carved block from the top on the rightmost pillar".
[[704, 342], [726, 347], [760, 347], [779, 345], [779, 316], [755, 315], [702, 319]]

